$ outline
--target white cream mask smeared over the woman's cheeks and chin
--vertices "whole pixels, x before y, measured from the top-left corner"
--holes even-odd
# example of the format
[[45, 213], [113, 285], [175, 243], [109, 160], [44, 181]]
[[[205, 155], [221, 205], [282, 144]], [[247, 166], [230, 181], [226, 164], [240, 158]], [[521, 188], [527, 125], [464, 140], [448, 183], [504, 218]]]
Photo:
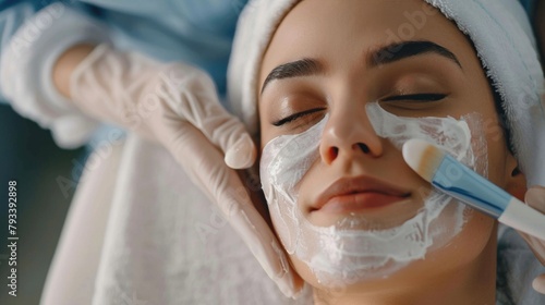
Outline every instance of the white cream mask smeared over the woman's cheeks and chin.
[[[368, 103], [366, 111], [376, 134], [388, 138], [397, 148], [410, 138], [426, 139], [486, 176], [486, 142], [480, 130], [479, 114], [465, 115], [460, 121], [399, 118], [377, 102]], [[319, 161], [318, 147], [327, 120], [328, 115], [301, 134], [270, 141], [263, 149], [259, 169], [280, 241], [290, 255], [308, 266], [323, 285], [341, 286], [388, 277], [409, 263], [424, 258], [427, 251], [448, 243], [462, 230], [467, 218], [472, 217], [465, 205], [432, 191], [422, 208], [397, 227], [382, 229], [372, 224], [370, 228], [374, 229], [363, 230], [362, 223], [368, 220], [356, 215], [347, 216], [330, 227], [312, 224], [298, 206], [298, 184]], [[469, 124], [474, 125], [470, 129]]]

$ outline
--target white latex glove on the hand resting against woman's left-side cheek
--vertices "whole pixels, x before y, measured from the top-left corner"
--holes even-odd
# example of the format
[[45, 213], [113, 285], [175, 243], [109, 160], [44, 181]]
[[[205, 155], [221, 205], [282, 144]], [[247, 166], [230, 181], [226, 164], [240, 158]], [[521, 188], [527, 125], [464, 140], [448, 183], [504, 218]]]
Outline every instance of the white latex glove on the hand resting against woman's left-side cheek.
[[295, 273], [233, 170], [254, 163], [254, 143], [244, 125], [221, 107], [205, 72], [100, 45], [75, 68], [70, 95], [95, 119], [165, 146], [219, 206], [280, 290], [294, 295]]

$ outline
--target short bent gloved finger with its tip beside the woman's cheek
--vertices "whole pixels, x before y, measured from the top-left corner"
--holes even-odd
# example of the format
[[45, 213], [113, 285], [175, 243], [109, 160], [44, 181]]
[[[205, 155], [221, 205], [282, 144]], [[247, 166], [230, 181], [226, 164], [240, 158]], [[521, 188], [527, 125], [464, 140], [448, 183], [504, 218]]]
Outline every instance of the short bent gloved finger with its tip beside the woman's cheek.
[[164, 99], [223, 151], [229, 167], [245, 169], [255, 162], [256, 149], [250, 134], [219, 103], [214, 82], [205, 72], [177, 63], [168, 66], [161, 77], [167, 86]]

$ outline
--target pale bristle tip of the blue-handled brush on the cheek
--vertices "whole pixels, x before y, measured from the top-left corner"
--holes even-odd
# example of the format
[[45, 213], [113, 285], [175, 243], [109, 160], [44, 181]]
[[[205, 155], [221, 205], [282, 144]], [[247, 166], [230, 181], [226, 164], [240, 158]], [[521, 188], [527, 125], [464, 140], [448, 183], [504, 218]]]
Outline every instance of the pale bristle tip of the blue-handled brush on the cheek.
[[412, 138], [403, 144], [403, 159], [409, 167], [427, 182], [432, 182], [445, 152], [423, 139]]

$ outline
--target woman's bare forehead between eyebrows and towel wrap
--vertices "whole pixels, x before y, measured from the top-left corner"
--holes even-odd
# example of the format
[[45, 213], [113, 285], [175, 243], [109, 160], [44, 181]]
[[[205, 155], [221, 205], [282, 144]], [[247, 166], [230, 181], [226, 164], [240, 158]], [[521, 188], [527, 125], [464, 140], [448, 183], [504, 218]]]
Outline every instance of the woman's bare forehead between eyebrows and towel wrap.
[[259, 84], [286, 62], [314, 58], [352, 69], [372, 50], [404, 40], [434, 41], [462, 60], [475, 57], [456, 24], [423, 0], [303, 0], [278, 26], [262, 62]]

